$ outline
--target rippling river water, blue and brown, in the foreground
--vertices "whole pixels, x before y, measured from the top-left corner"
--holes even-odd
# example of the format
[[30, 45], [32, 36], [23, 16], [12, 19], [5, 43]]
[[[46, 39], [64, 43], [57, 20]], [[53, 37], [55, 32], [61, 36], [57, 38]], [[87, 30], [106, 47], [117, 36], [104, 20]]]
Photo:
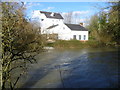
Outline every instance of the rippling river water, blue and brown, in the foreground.
[[23, 88], [117, 88], [118, 48], [48, 50], [38, 55]]

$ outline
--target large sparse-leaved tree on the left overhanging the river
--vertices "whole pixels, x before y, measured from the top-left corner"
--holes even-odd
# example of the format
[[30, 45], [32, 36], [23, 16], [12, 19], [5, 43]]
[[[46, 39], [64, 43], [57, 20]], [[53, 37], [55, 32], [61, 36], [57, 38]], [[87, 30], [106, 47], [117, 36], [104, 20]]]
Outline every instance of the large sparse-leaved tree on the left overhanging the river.
[[24, 3], [2, 2], [2, 89], [16, 88], [43, 48], [39, 28], [25, 19]]

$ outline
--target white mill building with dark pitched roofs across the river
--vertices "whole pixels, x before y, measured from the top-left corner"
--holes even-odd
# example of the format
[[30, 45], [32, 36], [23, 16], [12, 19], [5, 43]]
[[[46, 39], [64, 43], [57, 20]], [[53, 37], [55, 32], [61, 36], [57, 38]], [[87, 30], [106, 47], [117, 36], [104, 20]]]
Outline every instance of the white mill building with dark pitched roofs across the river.
[[65, 24], [59, 13], [39, 11], [41, 33], [57, 35], [60, 40], [88, 40], [88, 30], [82, 25]]

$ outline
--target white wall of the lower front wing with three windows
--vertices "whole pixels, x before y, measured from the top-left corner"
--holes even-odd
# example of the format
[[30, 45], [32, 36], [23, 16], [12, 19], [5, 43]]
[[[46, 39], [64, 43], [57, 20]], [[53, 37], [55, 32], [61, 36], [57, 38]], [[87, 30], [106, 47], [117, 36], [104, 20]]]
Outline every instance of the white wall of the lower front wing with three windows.
[[71, 31], [65, 24], [60, 24], [52, 29], [46, 29], [44, 34], [58, 34], [58, 39], [60, 40], [71, 40], [74, 39], [73, 35], [76, 35], [76, 39], [79, 40], [79, 35], [81, 35], [81, 40], [88, 40], [88, 31]]

